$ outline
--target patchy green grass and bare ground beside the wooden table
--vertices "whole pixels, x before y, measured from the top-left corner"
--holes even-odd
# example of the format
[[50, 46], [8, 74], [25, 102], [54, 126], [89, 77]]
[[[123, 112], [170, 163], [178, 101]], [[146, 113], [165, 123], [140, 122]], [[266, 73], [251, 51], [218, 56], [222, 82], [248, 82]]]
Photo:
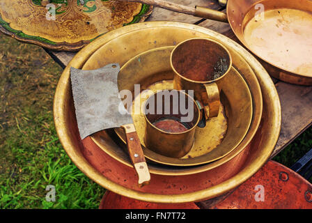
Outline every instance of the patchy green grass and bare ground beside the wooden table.
[[[98, 208], [104, 189], [75, 167], [56, 135], [52, 103], [62, 69], [38, 46], [0, 34], [0, 208]], [[290, 167], [312, 128], [274, 160]], [[56, 202], [47, 202], [47, 185]]]

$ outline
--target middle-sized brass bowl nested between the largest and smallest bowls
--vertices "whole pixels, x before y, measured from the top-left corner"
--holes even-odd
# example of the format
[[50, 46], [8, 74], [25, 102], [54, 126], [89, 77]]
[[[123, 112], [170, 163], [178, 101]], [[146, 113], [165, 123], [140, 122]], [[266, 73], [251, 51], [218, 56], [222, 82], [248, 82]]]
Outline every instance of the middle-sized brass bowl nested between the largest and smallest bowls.
[[[148, 26], [150, 24], [150, 26]], [[154, 25], [155, 24], [155, 25]], [[156, 26], [158, 24], [158, 26]], [[236, 155], [238, 155], [244, 148], [250, 143], [254, 134], [256, 134], [256, 130], [260, 124], [260, 118], [263, 110], [263, 98], [260, 90], [260, 86], [256, 75], [253, 70], [250, 68], [249, 63], [245, 61], [240, 54], [238, 54], [231, 45], [229, 45], [224, 39], [222, 41], [220, 38], [223, 38], [221, 34], [219, 37], [210, 36], [205, 34], [207, 29], [203, 28], [203, 32], [201, 31], [193, 31], [190, 32], [189, 29], [181, 29], [180, 27], [174, 27], [174, 24], [171, 22], [148, 22], [144, 23], [144, 26], [139, 27], [137, 29], [132, 30], [131, 27], [128, 30], [125, 30], [125, 33], [111, 33], [111, 36], [107, 36], [107, 39], [104, 43], [99, 46], [99, 49], [96, 52], [91, 53], [90, 58], [84, 62], [83, 69], [93, 70], [94, 68], [100, 68], [104, 66], [105, 63], [113, 63], [112, 61], [120, 61], [120, 66], [123, 66], [129, 59], [141, 52], [146, 52], [148, 49], [154, 49], [157, 47], [164, 47], [172, 44], [178, 44], [185, 39], [188, 38], [213, 38], [214, 40], [220, 41], [222, 44], [226, 45], [228, 51], [231, 53], [233, 64], [235, 64], [235, 68], [240, 72], [240, 74], [247, 80], [247, 84], [249, 84], [249, 90], [251, 91], [251, 95], [253, 97], [253, 118], [251, 121], [251, 126], [249, 132], [246, 137], [242, 141], [242, 143], [235, 148], [232, 153], [229, 153], [225, 157], [220, 160], [204, 164], [198, 167], [159, 167], [150, 164], [150, 173], [152, 174], [161, 174], [161, 175], [187, 175], [187, 174], [196, 174], [203, 171], [207, 171], [209, 169], [213, 169], [215, 167], [219, 167], [221, 164], [228, 162], [233, 159]], [[181, 25], [180, 23], [178, 23]], [[154, 27], [155, 26], [155, 27]], [[187, 24], [185, 24], [187, 26]], [[132, 25], [134, 27], [134, 25]], [[144, 29], [144, 27], [146, 27]], [[157, 29], [155, 29], [157, 27]], [[183, 26], [182, 26], [183, 27]], [[187, 26], [189, 27], [189, 26]], [[123, 28], [125, 29], [125, 27]], [[141, 30], [143, 29], [143, 30]], [[196, 29], [199, 27], [196, 26]], [[135, 36], [139, 33], [138, 36]], [[159, 36], [157, 40], [155, 40], [155, 36]], [[130, 42], [129, 42], [130, 41]], [[139, 42], [136, 42], [139, 41]], [[129, 43], [136, 43], [134, 45]], [[139, 47], [138, 43], [141, 43]], [[125, 45], [125, 47], [120, 47], [120, 44]], [[127, 54], [128, 60], [125, 59], [125, 54]], [[107, 134], [106, 132], [102, 132], [102, 139], [104, 139], [104, 143], [107, 146], [106, 153], [116, 158], [116, 160], [122, 162], [127, 165], [130, 160], [129, 157], [124, 153], [123, 149], [120, 149], [124, 146], [123, 142], [120, 141], [121, 144], [112, 146], [111, 144], [107, 144], [107, 141], [114, 140], [118, 143], [119, 137], [114, 137], [114, 135]], [[113, 139], [111, 139], [113, 137]], [[92, 137], [91, 137], [92, 138]], [[101, 140], [102, 141], [102, 140]], [[103, 141], [102, 141], [103, 144]]]

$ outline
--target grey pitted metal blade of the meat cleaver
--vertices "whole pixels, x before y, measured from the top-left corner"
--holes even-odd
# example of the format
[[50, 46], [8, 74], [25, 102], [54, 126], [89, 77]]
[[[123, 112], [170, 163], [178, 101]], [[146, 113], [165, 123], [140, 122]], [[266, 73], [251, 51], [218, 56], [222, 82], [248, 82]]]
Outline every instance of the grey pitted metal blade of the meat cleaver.
[[119, 107], [122, 103], [117, 85], [119, 70], [118, 63], [111, 63], [97, 70], [70, 68], [72, 95], [81, 139], [100, 130], [133, 123], [127, 110]]

